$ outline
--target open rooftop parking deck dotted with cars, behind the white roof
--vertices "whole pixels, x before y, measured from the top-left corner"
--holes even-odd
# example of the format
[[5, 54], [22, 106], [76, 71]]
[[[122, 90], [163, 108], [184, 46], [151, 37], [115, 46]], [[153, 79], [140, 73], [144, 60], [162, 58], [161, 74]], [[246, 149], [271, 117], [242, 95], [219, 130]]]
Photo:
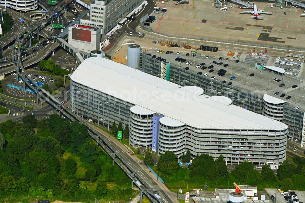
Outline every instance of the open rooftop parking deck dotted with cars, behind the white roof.
[[[218, 82], [222, 82], [225, 80], [224, 84], [227, 84], [227, 90], [223, 89], [217, 89], [212, 90], [214, 92], [219, 91], [225, 91], [225, 94], [229, 96], [229, 98], [233, 98], [231, 93], [232, 91], [230, 87], [238, 87], [243, 90], [246, 90], [248, 92], [251, 92], [252, 94], [259, 94], [263, 96], [264, 94], [273, 95], [276, 91], [279, 91], [280, 94], [274, 96], [276, 98], [282, 99], [290, 106], [294, 107], [296, 104], [300, 106], [300, 108], [305, 109], [304, 104], [304, 94], [305, 94], [305, 82], [296, 80], [294, 78], [291, 78], [289, 76], [282, 76], [278, 75], [276, 73], [271, 73], [269, 71], [256, 69], [254, 64], [245, 63], [242, 61], [239, 61], [238, 63], [235, 62], [236, 58], [228, 57], [225, 54], [227, 52], [207, 52], [206, 54], [202, 54], [201, 56], [196, 56], [195, 58], [192, 57], [190, 54], [189, 56], [186, 56], [186, 53], [191, 53], [191, 50], [183, 50], [180, 52], [180, 55], [176, 55], [177, 52], [174, 52], [173, 54], [166, 54], [166, 51], [171, 51], [170, 47], [160, 47], [160, 50], [163, 49], [163, 53], [158, 53], [156, 50], [150, 50], [148, 53], [151, 53], [152, 56], [156, 55], [156, 57], [161, 57], [163, 59], [166, 59], [167, 62], [170, 62], [174, 66], [180, 67], [184, 71], [186, 67], [189, 67], [188, 71], [191, 71], [193, 73], [202, 72], [201, 77], [203, 77], [203, 74], [207, 73], [208, 75], [206, 78], [211, 78], [214, 76], [214, 79], [211, 79], [211, 83], [213, 81], [217, 80]], [[209, 55], [209, 58], [206, 59], [206, 56]], [[150, 56], [150, 57], [152, 57]], [[185, 59], [187, 61], [193, 62], [192, 65], [188, 65], [185, 62], [178, 62], [175, 61], [177, 57], [180, 57], [182, 59]], [[223, 57], [222, 60], [219, 60], [219, 57]], [[228, 61], [225, 61], [226, 58], [229, 58]], [[157, 60], [158, 61], [158, 60]], [[217, 64], [213, 64], [213, 61], [219, 63], [223, 62], [222, 65], [218, 66]], [[208, 67], [210, 65], [214, 66], [214, 71], [212, 73], [209, 73], [210, 69], [201, 69], [201, 67], [196, 68], [198, 64], [205, 63], [204, 66]], [[228, 64], [227, 67], [224, 67], [224, 64]], [[224, 69], [227, 72], [224, 76], [218, 76], [218, 70]], [[186, 70], [185, 70], [186, 71]], [[253, 74], [252, 74], [253, 73]], [[251, 76], [250, 76], [251, 75]], [[231, 76], [235, 76], [234, 80], [230, 80]], [[278, 78], [281, 80], [281, 82], [275, 82], [273, 81], [274, 78]], [[173, 81], [173, 78], [170, 78], [171, 81]], [[189, 85], [194, 83], [194, 81], [174, 81], [178, 82], [181, 85]], [[228, 83], [231, 82], [231, 85], [228, 85]], [[285, 86], [279, 87], [279, 85], [284, 82]], [[298, 88], [292, 88], [293, 85], [298, 85]], [[228, 93], [228, 94], [227, 94]], [[285, 93], [286, 96], [291, 96], [292, 98], [289, 100], [286, 100], [285, 98], [281, 98], [280, 95], [282, 93]], [[219, 93], [220, 94], [220, 93]]]

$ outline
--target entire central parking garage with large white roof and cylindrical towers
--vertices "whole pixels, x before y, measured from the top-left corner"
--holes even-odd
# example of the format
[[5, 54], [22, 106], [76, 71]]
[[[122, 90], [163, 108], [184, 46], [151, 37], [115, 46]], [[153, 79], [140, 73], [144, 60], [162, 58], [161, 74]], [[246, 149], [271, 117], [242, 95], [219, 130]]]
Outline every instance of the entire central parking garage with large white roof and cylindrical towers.
[[71, 75], [70, 108], [104, 126], [129, 124], [130, 144], [180, 157], [224, 155], [228, 164], [249, 160], [272, 169], [285, 160], [288, 126], [103, 58], [88, 58]]

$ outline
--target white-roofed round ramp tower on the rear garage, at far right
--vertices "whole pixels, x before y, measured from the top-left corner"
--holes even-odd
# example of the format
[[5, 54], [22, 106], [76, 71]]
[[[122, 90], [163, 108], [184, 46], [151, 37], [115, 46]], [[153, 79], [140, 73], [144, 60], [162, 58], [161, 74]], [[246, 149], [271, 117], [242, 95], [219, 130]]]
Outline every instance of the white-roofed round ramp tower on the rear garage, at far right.
[[263, 115], [282, 122], [285, 103], [287, 102], [265, 94], [263, 102]]

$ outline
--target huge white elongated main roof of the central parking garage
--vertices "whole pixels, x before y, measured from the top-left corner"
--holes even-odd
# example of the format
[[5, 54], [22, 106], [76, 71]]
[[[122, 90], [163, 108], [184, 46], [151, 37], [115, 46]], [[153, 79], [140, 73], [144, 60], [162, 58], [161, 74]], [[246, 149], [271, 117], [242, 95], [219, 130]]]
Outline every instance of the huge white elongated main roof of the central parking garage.
[[[182, 86], [109, 59], [91, 57], [71, 80], [198, 129], [286, 130], [284, 123], [235, 105], [224, 105]], [[146, 110], [143, 112], [146, 112]]]

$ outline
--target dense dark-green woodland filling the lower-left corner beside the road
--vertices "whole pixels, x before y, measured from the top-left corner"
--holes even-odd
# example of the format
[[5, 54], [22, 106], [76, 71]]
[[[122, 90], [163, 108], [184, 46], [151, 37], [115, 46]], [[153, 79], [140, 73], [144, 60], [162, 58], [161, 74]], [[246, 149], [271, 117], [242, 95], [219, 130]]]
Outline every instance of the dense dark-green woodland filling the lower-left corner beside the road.
[[[0, 131], [4, 140], [0, 150], [0, 200], [56, 196], [84, 202], [94, 198], [128, 201], [136, 195], [129, 188], [131, 180], [92, 141], [84, 124], [70, 123], [58, 115], [37, 123], [34, 116], [27, 116], [23, 123], [0, 123]], [[97, 187], [92, 189], [91, 183]]]

